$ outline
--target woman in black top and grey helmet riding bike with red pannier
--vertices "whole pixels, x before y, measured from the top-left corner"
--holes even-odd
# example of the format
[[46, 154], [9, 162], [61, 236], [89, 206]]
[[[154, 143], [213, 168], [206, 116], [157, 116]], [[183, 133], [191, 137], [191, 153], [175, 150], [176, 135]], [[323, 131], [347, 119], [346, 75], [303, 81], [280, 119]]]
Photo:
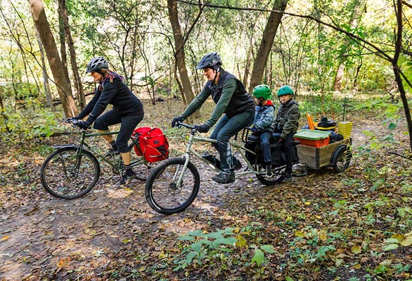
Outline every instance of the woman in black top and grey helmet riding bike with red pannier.
[[[106, 156], [111, 157], [116, 153], [122, 156], [126, 173], [122, 176], [121, 183], [128, 183], [136, 177], [130, 167], [128, 139], [137, 124], [143, 120], [143, 104], [124, 83], [124, 78], [108, 69], [108, 63], [102, 56], [92, 58], [87, 64], [86, 72], [91, 74], [95, 82], [99, 82], [99, 86], [93, 99], [74, 118], [83, 119], [89, 115], [87, 120], [80, 121], [78, 126], [88, 128], [94, 122], [93, 127], [101, 133], [108, 131], [108, 126], [120, 123], [117, 139], [113, 135], [103, 135], [103, 137], [111, 144], [111, 149]], [[101, 115], [108, 104], [113, 104], [113, 109]]]

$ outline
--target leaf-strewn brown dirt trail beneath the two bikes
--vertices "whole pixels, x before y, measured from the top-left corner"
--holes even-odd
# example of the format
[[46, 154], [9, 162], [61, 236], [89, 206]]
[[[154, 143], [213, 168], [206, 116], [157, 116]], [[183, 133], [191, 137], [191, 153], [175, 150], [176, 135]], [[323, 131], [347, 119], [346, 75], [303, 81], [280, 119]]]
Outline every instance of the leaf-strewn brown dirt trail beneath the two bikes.
[[[366, 141], [361, 130], [378, 132], [377, 125], [356, 121], [354, 146]], [[92, 192], [65, 201], [43, 190], [38, 175], [43, 157], [16, 155], [10, 150], [1, 158], [1, 280], [65, 280], [70, 272], [99, 280], [108, 265], [124, 262], [122, 253], [129, 251], [130, 245], [139, 247], [135, 250], [141, 256], [160, 252], [163, 244], [173, 245], [177, 236], [207, 224], [218, 225], [222, 218], [231, 216], [225, 210], [228, 202], [231, 207], [237, 202], [238, 212], [242, 212], [244, 204], [273, 192], [253, 177], [219, 186], [210, 180], [213, 171], [202, 166], [201, 191], [194, 204], [181, 214], [163, 216], [146, 203], [143, 182], [116, 186], [104, 165]], [[299, 181], [282, 183], [282, 188], [299, 188]]]

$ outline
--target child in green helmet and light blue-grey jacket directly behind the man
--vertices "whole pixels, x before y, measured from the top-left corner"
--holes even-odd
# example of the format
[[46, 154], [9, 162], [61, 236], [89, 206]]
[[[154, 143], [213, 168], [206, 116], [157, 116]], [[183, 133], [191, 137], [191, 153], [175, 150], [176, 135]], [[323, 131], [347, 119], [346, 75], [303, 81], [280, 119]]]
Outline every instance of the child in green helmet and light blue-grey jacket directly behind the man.
[[270, 140], [273, 132], [272, 122], [275, 117], [275, 106], [271, 100], [272, 90], [268, 85], [258, 85], [253, 89], [258, 105], [255, 107], [255, 121], [253, 122], [253, 135], [259, 135], [260, 150], [263, 153], [263, 161], [266, 166], [266, 175], [272, 175], [272, 155]]

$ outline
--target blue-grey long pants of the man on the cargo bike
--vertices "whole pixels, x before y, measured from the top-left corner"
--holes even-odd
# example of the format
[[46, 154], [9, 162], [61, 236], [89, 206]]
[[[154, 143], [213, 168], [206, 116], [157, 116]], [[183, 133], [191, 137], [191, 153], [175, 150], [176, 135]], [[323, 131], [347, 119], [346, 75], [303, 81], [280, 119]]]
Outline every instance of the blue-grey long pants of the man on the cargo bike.
[[228, 118], [223, 115], [220, 118], [216, 128], [211, 133], [211, 139], [217, 139], [218, 143], [213, 146], [218, 150], [220, 156], [220, 169], [222, 172], [233, 172], [233, 159], [230, 148], [229, 139], [236, 135], [242, 128], [245, 128], [252, 124], [255, 118], [255, 111], [244, 111], [237, 115]]

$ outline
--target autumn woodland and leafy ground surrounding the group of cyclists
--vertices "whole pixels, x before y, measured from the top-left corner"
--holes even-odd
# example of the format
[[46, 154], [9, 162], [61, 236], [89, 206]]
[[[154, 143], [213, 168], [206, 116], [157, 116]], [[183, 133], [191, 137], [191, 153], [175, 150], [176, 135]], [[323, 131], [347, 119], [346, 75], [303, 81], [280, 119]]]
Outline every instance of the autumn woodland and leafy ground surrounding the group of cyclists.
[[[411, 279], [411, 14], [386, 0], [1, 0], [0, 278]], [[354, 122], [350, 169], [273, 188], [221, 188], [205, 170], [194, 206], [170, 217], [149, 210], [144, 183], [113, 187], [108, 172], [77, 201], [45, 194], [51, 136], [95, 89], [90, 58], [125, 76], [142, 125], [162, 128], [176, 155], [170, 120], [203, 87], [194, 67], [209, 52], [249, 92], [292, 85], [302, 116]], [[197, 247], [187, 232], [236, 243]]]

